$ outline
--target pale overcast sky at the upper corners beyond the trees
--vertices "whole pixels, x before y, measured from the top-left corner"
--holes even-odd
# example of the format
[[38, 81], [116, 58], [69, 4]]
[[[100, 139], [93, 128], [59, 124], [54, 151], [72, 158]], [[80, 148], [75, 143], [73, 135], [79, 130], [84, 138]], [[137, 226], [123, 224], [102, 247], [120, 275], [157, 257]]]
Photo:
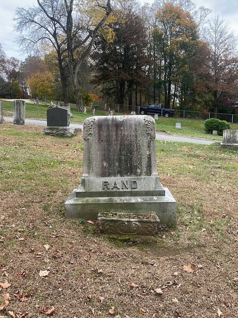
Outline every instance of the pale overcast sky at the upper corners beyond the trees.
[[[17, 6], [36, 4], [36, 0], [0, 0], [0, 43], [8, 57], [14, 56], [23, 60], [26, 55], [19, 53], [18, 45], [14, 42], [17, 33], [13, 31], [13, 17]], [[152, 0], [143, 2], [151, 3]], [[194, 0], [197, 6], [204, 6], [212, 10], [212, 14], [219, 12], [238, 36], [238, 1], [237, 0]]]

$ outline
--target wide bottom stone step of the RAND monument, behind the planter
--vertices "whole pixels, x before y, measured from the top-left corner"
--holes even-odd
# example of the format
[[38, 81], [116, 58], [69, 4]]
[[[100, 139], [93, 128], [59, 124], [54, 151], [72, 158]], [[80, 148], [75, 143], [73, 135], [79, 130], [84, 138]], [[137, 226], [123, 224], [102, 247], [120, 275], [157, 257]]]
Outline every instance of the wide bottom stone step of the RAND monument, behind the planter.
[[164, 196], [134, 197], [76, 197], [78, 189], [75, 189], [65, 202], [65, 217], [94, 220], [103, 212], [126, 211], [135, 214], [150, 212], [158, 216], [161, 225], [176, 225], [176, 201], [168, 188], [162, 189], [165, 191]]

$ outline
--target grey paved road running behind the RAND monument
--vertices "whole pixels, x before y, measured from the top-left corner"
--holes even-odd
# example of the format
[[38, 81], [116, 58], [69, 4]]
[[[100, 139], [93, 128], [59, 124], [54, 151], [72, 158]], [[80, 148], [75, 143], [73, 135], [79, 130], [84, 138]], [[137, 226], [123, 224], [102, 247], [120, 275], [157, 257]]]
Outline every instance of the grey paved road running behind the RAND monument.
[[[4, 116], [5, 121], [13, 122], [13, 117], [6, 117]], [[46, 120], [40, 119], [25, 119], [25, 124], [29, 125], [39, 125], [39, 126], [46, 126]], [[82, 124], [74, 124], [70, 123], [70, 127], [72, 128], [81, 128], [83, 129]], [[183, 136], [175, 136], [175, 135], [166, 135], [166, 134], [156, 134], [157, 140], [166, 140], [166, 141], [174, 141], [174, 142], [190, 142], [190, 143], [199, 143], [203, 145], [210, 145], [214, 142], [220, 142], [218, 140], [211, 140], [211, 139], [200, 139], [200, 138], [193, 138], [193, 137], [183, 137]]]

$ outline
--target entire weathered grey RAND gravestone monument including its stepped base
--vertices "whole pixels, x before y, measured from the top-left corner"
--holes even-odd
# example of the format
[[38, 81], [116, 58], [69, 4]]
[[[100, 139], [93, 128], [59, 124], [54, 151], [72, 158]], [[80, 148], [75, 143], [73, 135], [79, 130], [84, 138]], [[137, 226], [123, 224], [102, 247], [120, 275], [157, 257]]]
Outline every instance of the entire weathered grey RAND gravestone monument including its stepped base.
[[83, 176], [65, 203], [66, 218], [99, 212], [154, 212], [176, 224], [176, 201], [157, 174], [151, 116], [97, 116], [83, 124]]

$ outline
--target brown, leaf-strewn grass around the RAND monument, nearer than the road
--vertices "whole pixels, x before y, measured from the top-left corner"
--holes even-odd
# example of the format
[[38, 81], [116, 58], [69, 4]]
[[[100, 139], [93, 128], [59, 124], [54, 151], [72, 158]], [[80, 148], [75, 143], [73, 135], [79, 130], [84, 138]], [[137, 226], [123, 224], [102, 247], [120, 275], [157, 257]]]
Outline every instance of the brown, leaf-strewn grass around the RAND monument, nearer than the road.
[[148, 240], [105, 237], [97, 225], [64, 218], [82, 176], [82, 133], [57, 138], [42, 129], [0, 126], [0, 284], [11, 284], [0, 291], [0, 306], [11, 298], [0, 315], [47, 317], [44, 305], [60, 318], [238, 316], [237, 152], [157, 142], [177, 228]]

